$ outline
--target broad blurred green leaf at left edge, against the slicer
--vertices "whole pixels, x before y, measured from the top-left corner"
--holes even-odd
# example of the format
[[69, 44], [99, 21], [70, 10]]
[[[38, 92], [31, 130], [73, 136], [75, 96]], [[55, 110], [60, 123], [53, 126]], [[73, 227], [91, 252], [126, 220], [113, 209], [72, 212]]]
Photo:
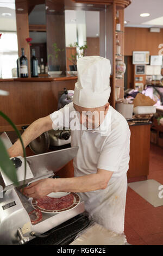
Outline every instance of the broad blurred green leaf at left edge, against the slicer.
[[2, 139], [0, 139], [0, 167], [3, 170], [4, 174], [18, 186], [16, 168], [12, 161], [9, 158], [7, 150], [5, 149]]

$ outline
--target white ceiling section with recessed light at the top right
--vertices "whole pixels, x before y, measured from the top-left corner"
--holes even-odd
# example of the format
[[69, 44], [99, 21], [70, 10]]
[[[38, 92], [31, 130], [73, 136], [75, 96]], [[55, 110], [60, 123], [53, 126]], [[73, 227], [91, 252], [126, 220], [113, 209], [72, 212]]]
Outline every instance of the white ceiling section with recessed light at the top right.
[[[150, 16], [141, 17], [141, 13]], [[124, 20], [129, 21], [125, 27], [163, 27], [163, 0], [133, 0], [124, 9]]]

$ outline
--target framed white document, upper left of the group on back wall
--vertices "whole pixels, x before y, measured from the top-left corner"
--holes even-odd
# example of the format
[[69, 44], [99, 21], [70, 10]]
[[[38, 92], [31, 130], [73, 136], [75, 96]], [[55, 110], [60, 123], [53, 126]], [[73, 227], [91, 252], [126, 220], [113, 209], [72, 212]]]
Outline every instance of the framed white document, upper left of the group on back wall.
[[133, 64], [149, 64], [149, 52], [133, 52]]

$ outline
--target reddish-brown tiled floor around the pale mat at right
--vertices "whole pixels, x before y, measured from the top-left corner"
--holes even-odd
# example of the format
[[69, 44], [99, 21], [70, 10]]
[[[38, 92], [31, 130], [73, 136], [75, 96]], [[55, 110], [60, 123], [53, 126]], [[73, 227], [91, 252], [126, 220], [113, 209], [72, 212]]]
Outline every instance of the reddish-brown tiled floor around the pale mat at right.
[[[163, 185], [163, 149], [154, 144], [148, 179]], [[163, 245], [163, 206], [155, 208], [128, 187], [124, 233], [130, 245]]]

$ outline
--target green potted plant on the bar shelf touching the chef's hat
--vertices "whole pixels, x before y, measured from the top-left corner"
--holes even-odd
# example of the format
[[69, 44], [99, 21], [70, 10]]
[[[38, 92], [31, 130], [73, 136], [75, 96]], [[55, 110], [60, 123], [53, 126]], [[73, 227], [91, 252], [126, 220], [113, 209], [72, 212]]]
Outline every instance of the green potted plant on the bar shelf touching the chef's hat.
[[71, 57], [68, 58], [68, 60], [70, 60], [70, 62], [72, 63], [72, 65], [69, 65], [70, 67], [70, 71], [77, 71], [77, 60], [80, 57], [83, 57], [85, 55], [85, 50], [87, 48], [86, 42], [84, 45], [79, 46], [78, 42], [74, 42], [74, 44], [70, 44], [69, 47], [76, 47], [76, 52], [75, 53], [71, 53]]

